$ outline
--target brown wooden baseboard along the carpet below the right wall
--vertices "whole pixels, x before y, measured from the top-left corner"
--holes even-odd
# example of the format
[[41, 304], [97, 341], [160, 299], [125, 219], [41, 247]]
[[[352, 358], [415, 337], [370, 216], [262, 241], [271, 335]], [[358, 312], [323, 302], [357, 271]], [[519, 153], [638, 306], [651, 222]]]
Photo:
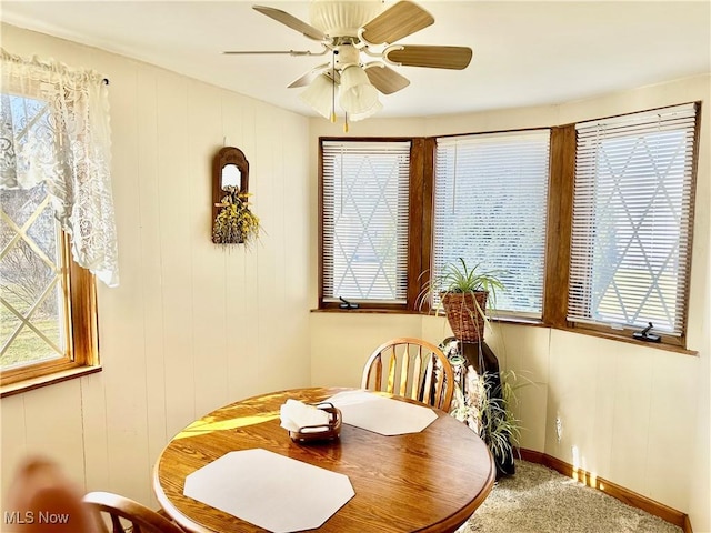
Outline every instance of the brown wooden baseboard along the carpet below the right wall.
[[637, 492], [630, 491], [629, 489], [612, 483], [611, 481], [608, 481], [603, 477], [598, 477], [597, 475], [593, 475], [588, 471], [575, 469], [572, 464], [561, 461], [558, 457], [553, 457], [552, 455], [549, 455], [547, 453], [525, 449], [520, 449], [519, 453], [520, 457], [523, 461], [528, 461], [529, 463], [542, 464], [543, 466], [554, 470], [567, 477], [571, 477], [580, 483], [583, 483], [587, 486], [597, 489], [598, 491], [602, 491], [605, 494], [609, 494], [612, 497], [615, 497], [621, 502], [631, 505], [632, 507], [641, 509], [649, 514], [659, 516], [663, 521], [681, 527], [684, 533], [693, 533], [689, 515], [682, 513], [681, 511], [677, 511], [675, 509], [664, 505], [663, 503], [655, 502], [654, 500], [638, 494]]

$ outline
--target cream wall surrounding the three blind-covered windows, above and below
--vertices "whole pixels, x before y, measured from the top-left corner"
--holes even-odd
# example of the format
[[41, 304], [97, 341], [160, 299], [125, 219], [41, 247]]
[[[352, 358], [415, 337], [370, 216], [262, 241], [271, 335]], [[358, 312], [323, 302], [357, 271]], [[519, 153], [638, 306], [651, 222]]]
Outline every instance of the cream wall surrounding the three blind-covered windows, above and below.
[[[487, 339], [503, 368], [533, 381], [521, 390], [522, 446], [545, 452], [690, 515], [694, 531], [711, 531], [709, 469], [709, 339], [711, 172], [710, 77], [694, 77], [587, 101], [420, 120], [351, 124], [349, 135], [437, 135], [558, 125], [703, 100], [689, 316], [689, 345], [698, 355], [608, 341], [545, 328], [495, 325]], [[311, 121], [311, 304], [318, 257], [317, 147], [339, 125]], [[419, 315], [311, 313], [314, 384], [358, 385], [370, 350], [392, 336], [437, 342], [450, 334], [443, 319]], [[557, 438], [555, 421], [562, 432]]]

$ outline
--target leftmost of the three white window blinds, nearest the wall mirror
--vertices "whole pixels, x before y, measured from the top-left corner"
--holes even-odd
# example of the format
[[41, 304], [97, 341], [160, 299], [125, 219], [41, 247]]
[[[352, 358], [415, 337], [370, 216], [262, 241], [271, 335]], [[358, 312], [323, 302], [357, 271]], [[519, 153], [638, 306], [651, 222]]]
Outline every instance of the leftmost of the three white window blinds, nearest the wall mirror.
[[405, 303], [410, 141], [322, 141], [324, 301]]

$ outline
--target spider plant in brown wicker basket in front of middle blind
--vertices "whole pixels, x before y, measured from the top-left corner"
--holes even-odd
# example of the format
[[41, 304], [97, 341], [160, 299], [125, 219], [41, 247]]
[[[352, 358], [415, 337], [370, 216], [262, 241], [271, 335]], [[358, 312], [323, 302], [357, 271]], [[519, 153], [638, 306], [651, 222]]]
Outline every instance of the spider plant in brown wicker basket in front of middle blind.
[[435, 301], [434, 314], [443, 309], [454, 336], [462, 342], [479, 342], [483, 339], [487, 323], [487, 301], [495, 302], [497, 290], [503, 284], [500, 270], [483, 270], [481, 263], [472, 268], [459, 258], [448, 263], [442, 272], [431, 278], [420, 293], [421, 305]]

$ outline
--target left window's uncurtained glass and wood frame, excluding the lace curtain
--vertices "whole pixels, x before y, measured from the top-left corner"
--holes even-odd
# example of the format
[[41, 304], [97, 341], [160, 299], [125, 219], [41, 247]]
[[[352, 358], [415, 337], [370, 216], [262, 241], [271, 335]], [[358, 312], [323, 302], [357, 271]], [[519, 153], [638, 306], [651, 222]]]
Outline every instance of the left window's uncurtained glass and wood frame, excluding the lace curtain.
[[[47, 102], [3, 97], [18, 144], [51, 130]], [[96, 324], [83, 332], [76, 324], [96, 315], [93, 276], [72, 268], [47, 184], [0, 190], [0, 200], [2, 384], [89, 363], [96, 358]]]

